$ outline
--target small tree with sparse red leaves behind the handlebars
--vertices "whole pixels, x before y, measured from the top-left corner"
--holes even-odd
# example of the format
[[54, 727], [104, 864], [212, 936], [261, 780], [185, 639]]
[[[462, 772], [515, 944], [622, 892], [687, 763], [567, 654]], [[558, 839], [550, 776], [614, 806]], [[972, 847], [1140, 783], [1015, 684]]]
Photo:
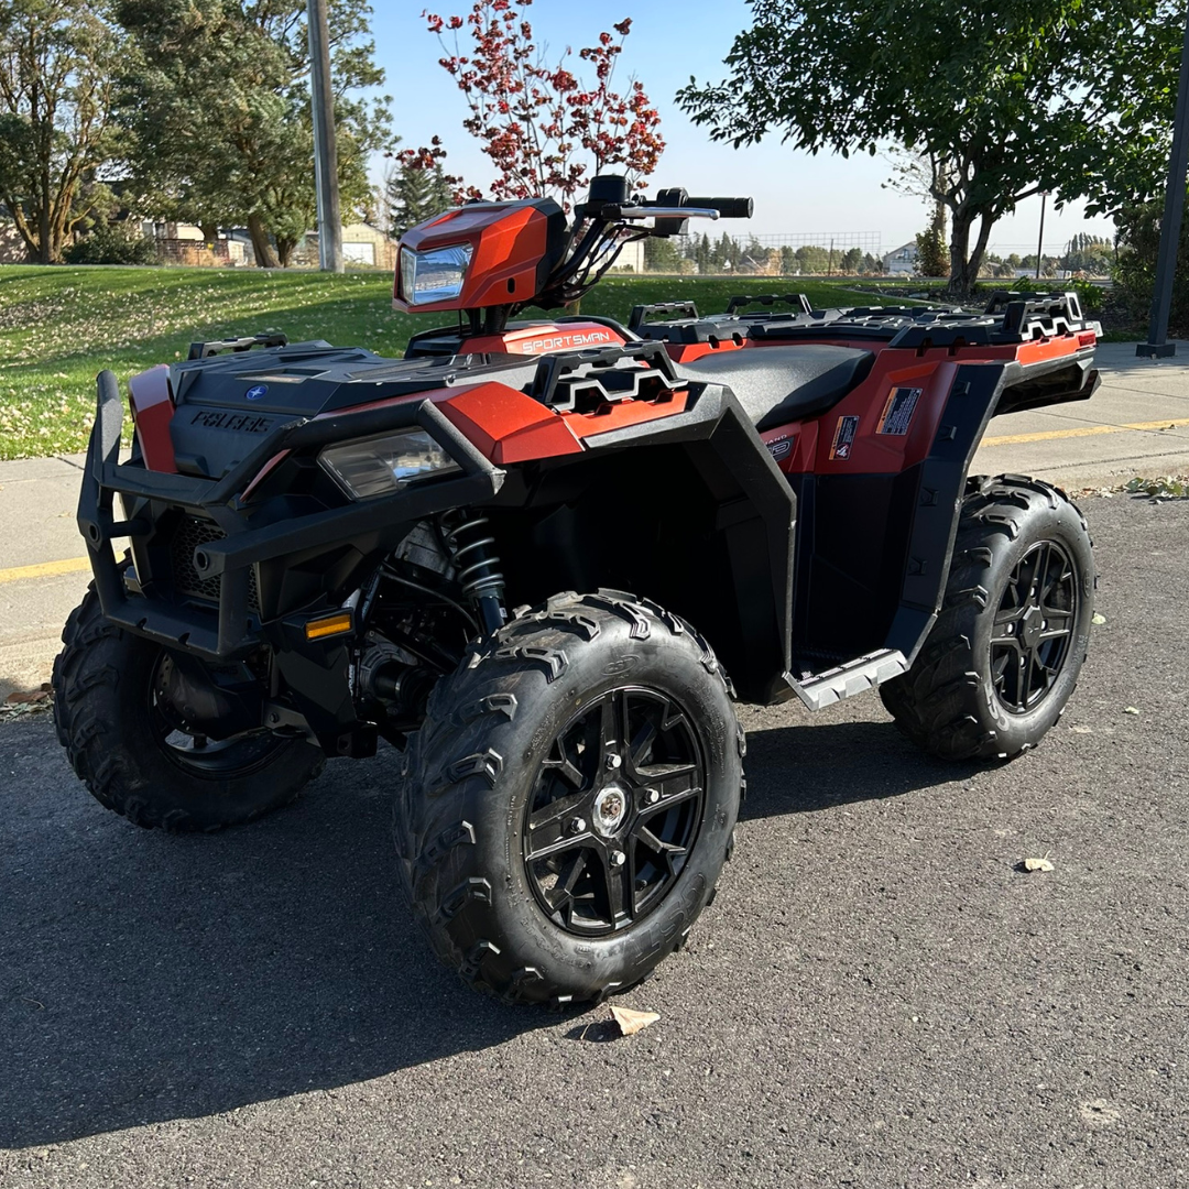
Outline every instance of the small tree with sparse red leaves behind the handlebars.
[[[580, 78], [570, 68], [571, 49], [553, 64], [536, 45], [523, 17], [530, 4], [520, 0], [516, 8], [511, 0], [476, 0], [465, 18], [423, 14], [442, 46], [439, 61], [466, 96], [471, 114], [463, 126], [482, 141], [497, 169], [492, 195], [549, 195], [568, 210], [591, 165], [594, 174], [616, 169], [640, 188], [656, 169], [665, 141], [643, 86], [633, 77], [623, 93], [612, 88], [630, 19], [612, 26], [618, 38], [599, 33], [598, 44], [578, 51], [593, 75]], [[471, 42], [466, 52], [465, 37]], [[426, 168], [440, 163], [445, 150], [434, 138], [429, 149], [410, 149], [400, 157], [402, 164]], [[478, 196], [473, 187], [452, 182], [459, 197]]]

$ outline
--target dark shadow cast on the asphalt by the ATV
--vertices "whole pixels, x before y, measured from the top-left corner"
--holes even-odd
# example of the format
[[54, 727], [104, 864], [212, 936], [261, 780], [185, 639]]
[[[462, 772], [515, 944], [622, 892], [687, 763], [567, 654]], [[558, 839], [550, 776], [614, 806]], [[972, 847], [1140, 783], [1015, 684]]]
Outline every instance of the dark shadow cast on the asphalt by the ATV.
[[[44, 721], [0, 728], [0, 1146], [215, 1114], [554, 1024], [429, 954], [395, 891], [392, 770], [391, 753], [331, 765], [266, 822], [175, 838], [94, 804]], [[891, 723], [761, 730], [744, 816], [961, 775]]]

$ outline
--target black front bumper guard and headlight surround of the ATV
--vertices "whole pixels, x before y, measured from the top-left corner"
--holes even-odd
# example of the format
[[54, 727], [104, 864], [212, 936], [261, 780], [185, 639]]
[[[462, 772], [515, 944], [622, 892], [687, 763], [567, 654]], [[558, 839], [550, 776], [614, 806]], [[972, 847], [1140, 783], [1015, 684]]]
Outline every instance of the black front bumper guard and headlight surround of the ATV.
[[[99, 375], [97, 401], [78, 497], [78, 529], [89, 546], [103, 615], [138, 635], [210, 659], [241, 656], [268, 640], [266, 625], [250, 605], [253, 567], [258, 564], [289, 554], [308, 555], [319, 547], [332, 548], [359, 534], [371, 533], [378, 526], [407, 524], [411, 528], [434, 512], [483, 504], [499, 491], [504, 480], [504, 472], [492, 466], [429, 400], [298, 419], [278, 426], [219, 479], [120, 465], [124, 407], [111, 371]], [[243, 493], [278, 454], [313, 452], [332, 442], [411, 428], [424, 429], [459, 464], [463, 473], [457, 478], [410, 485], [378, 499], [253, 526], [253, 505], [244, 502]], [[177, 509], [210, 521], [221, 530], [218, 540], [197, 545], [191, 558], [200, 578], [218, 579], [219, 594], [213, 608], [156, 596], [152, 592], [155, 584], [149, 584], [149, 590], [140, 593], [130, 590], [112, 542], [131, 537], [136, 548], [138, 541], [151, 536], [155, 524], [144, 512], [131, 520], [118, 518], [117, 493], [124, 497], [125, 507]], [[272, 642], [281, 644], [284, 640], [291, 641], [291, 634], [281, 631]]]

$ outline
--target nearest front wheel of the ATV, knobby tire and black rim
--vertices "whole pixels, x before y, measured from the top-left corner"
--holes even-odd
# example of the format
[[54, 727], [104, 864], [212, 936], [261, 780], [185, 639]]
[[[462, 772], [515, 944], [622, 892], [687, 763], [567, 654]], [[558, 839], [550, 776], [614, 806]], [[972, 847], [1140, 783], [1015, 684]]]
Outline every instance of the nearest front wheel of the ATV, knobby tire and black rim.
[[677, 616], [559, 594], [443, 678], [405, 753], [400, 869], [438, 956], [505, 1001], [584, 1002], [679, 948], [732, 844], [743, 735]]

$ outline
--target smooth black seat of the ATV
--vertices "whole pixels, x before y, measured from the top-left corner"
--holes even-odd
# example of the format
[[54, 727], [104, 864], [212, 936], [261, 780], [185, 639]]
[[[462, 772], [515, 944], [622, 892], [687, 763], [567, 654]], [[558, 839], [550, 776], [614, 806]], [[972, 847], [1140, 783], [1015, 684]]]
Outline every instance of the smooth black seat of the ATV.
[[725, 384], [765, 430], [832, 409], [867, 379], [874, 363], [870, 351], [806, 342], [715, 352], [673, 366], [682, 379]]

